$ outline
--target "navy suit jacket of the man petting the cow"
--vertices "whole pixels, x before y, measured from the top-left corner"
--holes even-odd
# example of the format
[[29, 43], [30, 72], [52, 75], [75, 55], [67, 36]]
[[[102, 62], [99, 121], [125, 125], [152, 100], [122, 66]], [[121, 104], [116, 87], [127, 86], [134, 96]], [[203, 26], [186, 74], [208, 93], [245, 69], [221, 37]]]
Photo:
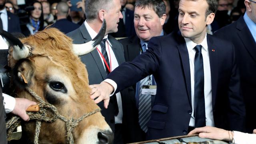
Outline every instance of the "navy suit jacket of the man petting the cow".
[[[207, 35], [212, 78], [214, 124], [218, 128], [244, 129], [245, 109], [231, 43]], [[154, 75], [157, 92], [147, 139], [185, 135], [192, 113], [190, 64], [180, 32], [150, 39], [148, 50], [126, 62], [107, 78], [117, 83], [116, 92]]]

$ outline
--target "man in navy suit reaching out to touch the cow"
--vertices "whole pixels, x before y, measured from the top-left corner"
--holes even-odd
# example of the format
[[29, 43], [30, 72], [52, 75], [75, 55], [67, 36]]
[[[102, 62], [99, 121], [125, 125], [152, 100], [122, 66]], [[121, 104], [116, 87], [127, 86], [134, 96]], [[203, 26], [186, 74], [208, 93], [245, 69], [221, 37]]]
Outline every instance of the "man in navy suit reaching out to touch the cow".
[[244, 129], [245, 108], [234, 47], [206, 34], [216, 0], [180, 0], [179, 32], [153, 37], [148, 50], [116, 68], [91, 98], [108, 100], [112, 92], [154, 75], [156, 99], [147, 139], [186, 135], [195, 127]]

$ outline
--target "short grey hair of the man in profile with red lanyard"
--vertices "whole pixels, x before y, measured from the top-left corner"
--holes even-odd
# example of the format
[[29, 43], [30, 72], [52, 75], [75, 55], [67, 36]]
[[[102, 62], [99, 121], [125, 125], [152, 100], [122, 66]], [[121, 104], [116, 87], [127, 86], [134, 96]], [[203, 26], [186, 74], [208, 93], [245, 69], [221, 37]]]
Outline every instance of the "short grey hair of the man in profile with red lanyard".
[[108, 11], [113, 6], [113, 0], [86, 0], [85, 15], [87, 20], [94, 20], [98, 16], [99, 10]]

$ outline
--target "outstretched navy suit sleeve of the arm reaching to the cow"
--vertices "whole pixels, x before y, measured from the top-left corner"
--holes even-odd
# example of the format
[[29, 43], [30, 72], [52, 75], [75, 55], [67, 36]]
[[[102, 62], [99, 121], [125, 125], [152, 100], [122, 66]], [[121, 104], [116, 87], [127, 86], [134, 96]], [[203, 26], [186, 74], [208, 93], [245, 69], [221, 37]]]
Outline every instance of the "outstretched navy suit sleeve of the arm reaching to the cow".
[[116, 92], [132, 86], [139, 80], [156, 72], [162, 55], [162, 46], [157, 38], [148, 43], [148, 50], [131, 62], [125, 62], [108, 75], [117, 84]]

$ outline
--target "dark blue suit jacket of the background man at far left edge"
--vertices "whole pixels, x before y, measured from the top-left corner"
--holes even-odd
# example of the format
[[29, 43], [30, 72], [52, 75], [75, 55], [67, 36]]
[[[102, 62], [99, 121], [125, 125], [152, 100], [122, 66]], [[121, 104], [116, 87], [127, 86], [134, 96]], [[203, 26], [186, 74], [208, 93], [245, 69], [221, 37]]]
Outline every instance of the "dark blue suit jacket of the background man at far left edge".
[[7, 11], [8, 16], [8, 32], [20, 32], [20, 19], [15, 14], [12, 14], [11, 12]]

